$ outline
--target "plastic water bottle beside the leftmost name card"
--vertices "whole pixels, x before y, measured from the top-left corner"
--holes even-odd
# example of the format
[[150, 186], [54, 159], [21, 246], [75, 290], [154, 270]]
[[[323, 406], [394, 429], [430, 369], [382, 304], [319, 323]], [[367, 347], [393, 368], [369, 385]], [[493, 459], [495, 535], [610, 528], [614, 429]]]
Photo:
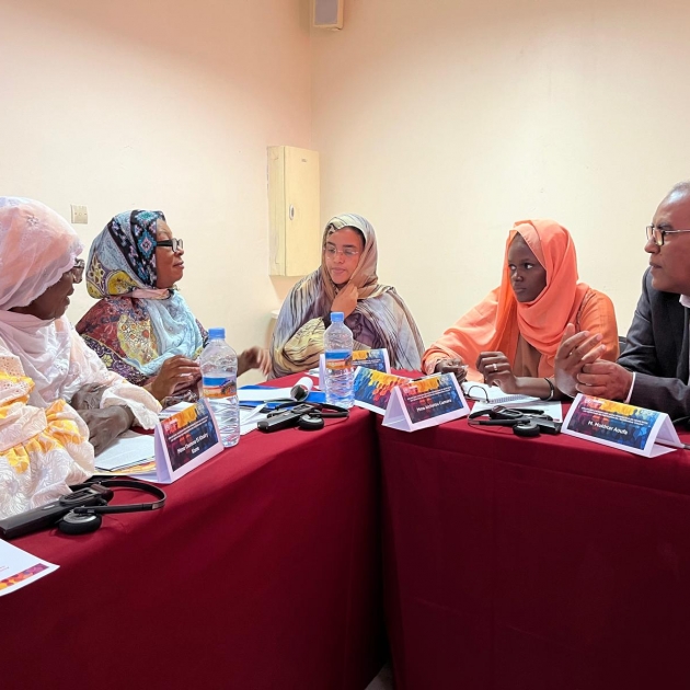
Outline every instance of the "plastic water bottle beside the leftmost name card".
[[220, 440], [226, 448], [240, 440], [238, 401], [238, 356], [226, 343], [225, 329], [209, 329], [208, 345], [199, 357], [204, 398], [216, 417]]

